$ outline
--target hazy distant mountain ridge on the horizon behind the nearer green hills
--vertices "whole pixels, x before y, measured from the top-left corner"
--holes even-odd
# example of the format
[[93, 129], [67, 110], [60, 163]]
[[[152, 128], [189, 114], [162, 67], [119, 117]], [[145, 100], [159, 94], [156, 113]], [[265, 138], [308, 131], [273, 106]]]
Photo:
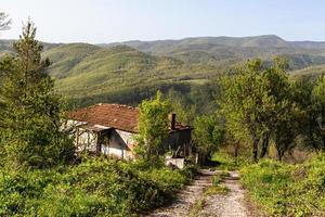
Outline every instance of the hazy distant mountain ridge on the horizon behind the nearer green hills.
[[219, 61], [240, 61], [256, 56], [271, 59], [282, 54], [308, 54], [311, 55], [311, 59], [325, 55], [325, 42], [286, 41], [274, 35], [196, 37], [157, 41], [133, 40], [100, 46], [109, 48], [117, 44], [129, 46], [155, 55], [172, 56], [186, 63], [195, 63], [200, 60], [199, 62], [204, 64], [219, 64]]

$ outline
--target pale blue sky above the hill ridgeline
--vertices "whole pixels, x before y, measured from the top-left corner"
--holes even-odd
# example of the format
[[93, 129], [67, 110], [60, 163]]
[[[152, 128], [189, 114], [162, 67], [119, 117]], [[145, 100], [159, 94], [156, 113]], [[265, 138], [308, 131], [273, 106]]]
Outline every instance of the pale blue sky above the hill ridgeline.
[[324, 0], [0, 0], [17, 38], [28, 16], [38, 39], [104, 43], [196, 36], [277, 35], [325, 41]]

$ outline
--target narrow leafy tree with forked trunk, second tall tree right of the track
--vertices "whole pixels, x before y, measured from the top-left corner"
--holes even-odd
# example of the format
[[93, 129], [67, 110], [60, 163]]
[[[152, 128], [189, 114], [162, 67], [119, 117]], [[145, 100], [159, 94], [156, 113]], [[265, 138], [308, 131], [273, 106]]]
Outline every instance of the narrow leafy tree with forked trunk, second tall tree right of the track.
[[[268, 130], [263, 133], [261, 157], [266, 154], [269, 139], [273, 133], [278, 158], [295, 146], [295, 138], [298, 136], [297, 115], [299, 113], [292, 98], [295, 84], [289, 80], [286, 73], [288, 62], [284, 59], [275, 59], [273, 64], [262, 74], [266, 84], [265, 90], [272, 99], [264, 108], [264, 117]], [[270, 106], [271, 105], [271, 106]]]

